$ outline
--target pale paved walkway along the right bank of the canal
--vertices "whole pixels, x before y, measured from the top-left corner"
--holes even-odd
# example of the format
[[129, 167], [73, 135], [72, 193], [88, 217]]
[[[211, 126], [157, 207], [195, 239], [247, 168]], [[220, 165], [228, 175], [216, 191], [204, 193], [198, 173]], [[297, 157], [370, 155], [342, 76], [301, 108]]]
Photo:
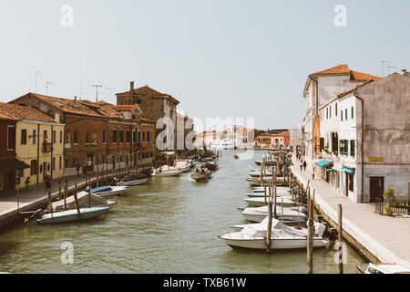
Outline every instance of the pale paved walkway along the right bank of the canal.
[[[292, 172], [306, 187], [315, 189], [315, 204], [319, 204], [325, 214], [338, 222], [338, 204], [343, 206], [343, 231], [354, 237], [382, 263], [400, 264], [410, 268], [410, 219], [382, 216], [374, 212], [374, 203], [353, 203], [333, 187], [315, 177], [312, 173], [301, 172], [298, 162], [293, 162]], [[311, 191], [313, 191], [313, 189]]]

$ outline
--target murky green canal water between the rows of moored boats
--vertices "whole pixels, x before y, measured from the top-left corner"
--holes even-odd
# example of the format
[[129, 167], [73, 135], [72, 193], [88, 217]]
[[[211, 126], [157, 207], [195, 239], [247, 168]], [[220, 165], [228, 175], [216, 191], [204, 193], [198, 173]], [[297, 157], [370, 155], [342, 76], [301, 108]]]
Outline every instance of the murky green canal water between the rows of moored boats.
[[[223, 151], [208, 183], [180, 177], [153, 178], [118, 197], [108, 214], [80, 224], [9, 227], [0, 233], [0, 272], [9, 273], [306, 273], [306, 252], [232, 250], [217, 235], [246, 224], [245, 181], [255, 160], [233, 159]], [[73, 245], [74, 264], [62, 264], [62, 244]], [[332, 247], [314, 250], [315, 273], [337, 273]], [[347, 249], [346, 273], [363, 262]]]

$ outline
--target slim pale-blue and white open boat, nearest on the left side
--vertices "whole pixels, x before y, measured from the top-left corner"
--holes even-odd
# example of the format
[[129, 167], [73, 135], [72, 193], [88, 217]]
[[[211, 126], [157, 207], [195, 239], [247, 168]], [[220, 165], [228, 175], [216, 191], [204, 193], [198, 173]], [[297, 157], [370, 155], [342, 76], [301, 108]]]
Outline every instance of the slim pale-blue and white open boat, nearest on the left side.
[[97, 216], [106, 213], [108, 210], [108, 207], [81, 208], [79, 209], [80, 214], [78, 215], [77, 209], [73, 209], [52, 214], [44, 214], [36, 221], [37, 224], [57, 224], [82, 221], [90, 218], [96, 218]]

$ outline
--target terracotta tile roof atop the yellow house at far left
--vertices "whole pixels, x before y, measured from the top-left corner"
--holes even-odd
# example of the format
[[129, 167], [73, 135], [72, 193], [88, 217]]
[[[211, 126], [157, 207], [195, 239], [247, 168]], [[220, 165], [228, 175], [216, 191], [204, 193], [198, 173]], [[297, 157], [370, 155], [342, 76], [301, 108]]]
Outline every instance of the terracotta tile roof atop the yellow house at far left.
[[55, 120], [39, 110], [0, 102], [0, 113], [14, 120], [36, 120], [43, 122], [55, 122]]

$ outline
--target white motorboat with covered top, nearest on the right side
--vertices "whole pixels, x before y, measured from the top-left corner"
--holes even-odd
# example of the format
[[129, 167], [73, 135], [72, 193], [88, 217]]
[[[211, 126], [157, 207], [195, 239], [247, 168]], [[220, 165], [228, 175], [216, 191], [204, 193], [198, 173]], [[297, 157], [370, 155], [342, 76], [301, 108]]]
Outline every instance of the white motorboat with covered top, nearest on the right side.
[[[240, 232], [220, 235], [218, 237], [223, 239], [225, 243], [232, 248], [265, 250], [267, 247], [267, 231], [268, 218], [265, 218], [260, 224], [249, 224]], [[327, 245], [327, 241], [323, 240], [322, 237], [323, 231], [323, 227], [318, 228], [315, 235], [313, 235], [313, 247], [323, 247]], [[270, 248], [274, 250], [302, 249], [306, 248], [307, 245], [306, 232], [282, 224], [280, 220], [272, 219], [271, 236], [272, 242]]]

